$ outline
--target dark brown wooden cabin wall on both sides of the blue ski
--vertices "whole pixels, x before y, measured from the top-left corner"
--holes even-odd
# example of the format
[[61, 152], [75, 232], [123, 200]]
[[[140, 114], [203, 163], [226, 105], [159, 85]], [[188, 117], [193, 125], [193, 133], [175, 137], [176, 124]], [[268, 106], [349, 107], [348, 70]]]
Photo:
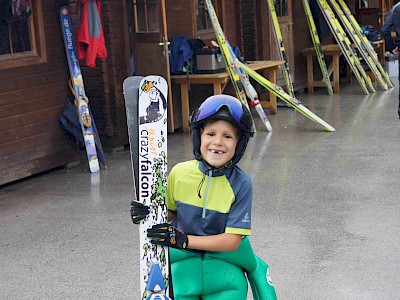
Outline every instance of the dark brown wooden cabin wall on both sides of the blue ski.
[[[81, 61], [89, 105], [106, 151], [128, 144], [122, 93], [129, 66], [124, 9], [125, 1], [102, 1], [108, 58], [97, 59], [95, 68]], [[41, 1], [47, 52], [43, 63], [7, 69], [0, 63], [0, 185], [80, 159], [86, 163], [84, 150], [59, 125], [65, 102], [73, 95], [58, 11], [57, 1]], [[75, 4], [71, 18], [76, 31]]]

